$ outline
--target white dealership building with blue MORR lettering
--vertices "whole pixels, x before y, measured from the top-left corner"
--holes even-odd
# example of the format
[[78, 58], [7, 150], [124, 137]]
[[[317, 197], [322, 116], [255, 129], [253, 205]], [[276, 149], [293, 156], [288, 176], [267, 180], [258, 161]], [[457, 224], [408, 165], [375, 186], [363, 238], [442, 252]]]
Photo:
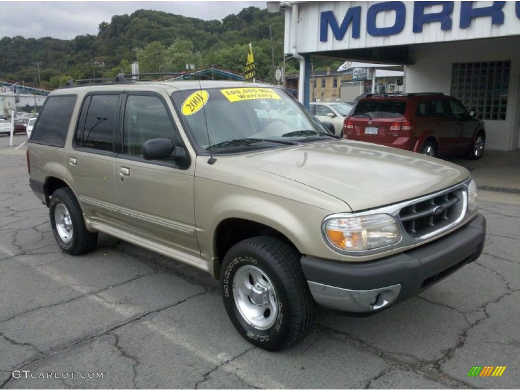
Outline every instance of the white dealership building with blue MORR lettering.
[[476, 110], [486, 147], [520, 148], [520, 2], [268, 2], [285, 10], [284, 51], [405, 66], [402, 92], [442, 92]]

